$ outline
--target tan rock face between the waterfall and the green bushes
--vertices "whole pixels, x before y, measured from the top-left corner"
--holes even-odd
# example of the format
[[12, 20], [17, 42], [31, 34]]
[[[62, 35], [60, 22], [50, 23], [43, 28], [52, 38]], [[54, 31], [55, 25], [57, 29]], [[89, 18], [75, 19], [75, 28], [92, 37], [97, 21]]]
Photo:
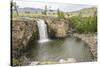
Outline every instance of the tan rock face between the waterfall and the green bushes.
[[68, 22], [65, 20], [47, 20], [50, 37], [64, 38], [67, 36]]

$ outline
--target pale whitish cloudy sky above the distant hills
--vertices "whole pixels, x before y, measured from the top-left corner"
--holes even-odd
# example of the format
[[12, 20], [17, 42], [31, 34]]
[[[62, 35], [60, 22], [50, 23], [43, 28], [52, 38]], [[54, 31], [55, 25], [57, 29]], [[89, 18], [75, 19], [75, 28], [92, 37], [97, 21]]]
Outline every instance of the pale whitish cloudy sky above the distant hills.
[[55, 3], [55, 2], [39, 2], [33, 0], [13, 0], [19, 6], [19, 8], [31, 7], [31, 8], [41, 8], [44, 9], [47, 5], [47, 9], [57, 10], [58, 8], [61, 11], [70, 12], [77, 11], [82, 8], [94, 7], [94, 5], [82, 5], [82, 4], [69, 4], [69, 3]]

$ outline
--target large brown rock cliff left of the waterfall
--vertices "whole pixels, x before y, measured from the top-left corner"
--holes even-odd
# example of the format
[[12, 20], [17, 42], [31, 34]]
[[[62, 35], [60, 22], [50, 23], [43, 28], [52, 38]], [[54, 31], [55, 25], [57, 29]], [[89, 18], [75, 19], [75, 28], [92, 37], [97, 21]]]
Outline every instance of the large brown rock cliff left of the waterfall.
[[12, 48], [25, 47], [33, 34], [36, 33], [36, 22], [33, 19], [13, 19], [12, 20]]

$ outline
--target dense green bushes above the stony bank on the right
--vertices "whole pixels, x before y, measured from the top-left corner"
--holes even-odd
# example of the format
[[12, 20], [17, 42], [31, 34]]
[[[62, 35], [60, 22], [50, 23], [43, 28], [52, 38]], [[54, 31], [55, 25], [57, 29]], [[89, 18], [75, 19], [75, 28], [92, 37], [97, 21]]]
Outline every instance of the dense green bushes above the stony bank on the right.
[[70, 18], [71, 26], [77, 32], [97, 32], [97, 17], [74, 16]]

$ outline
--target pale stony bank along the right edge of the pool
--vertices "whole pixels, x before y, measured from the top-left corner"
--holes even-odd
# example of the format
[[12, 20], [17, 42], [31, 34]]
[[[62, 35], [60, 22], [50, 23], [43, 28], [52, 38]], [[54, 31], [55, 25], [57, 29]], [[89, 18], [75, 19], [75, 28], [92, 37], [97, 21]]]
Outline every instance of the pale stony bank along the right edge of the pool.
[[94, 61], [96, 61], [97, 60], [97, 34], [96, 33], [88, 33], [88, 34], [74, 33], [73, 36], [82, 39], [89, 45], [90, 51], [94, 56]]

